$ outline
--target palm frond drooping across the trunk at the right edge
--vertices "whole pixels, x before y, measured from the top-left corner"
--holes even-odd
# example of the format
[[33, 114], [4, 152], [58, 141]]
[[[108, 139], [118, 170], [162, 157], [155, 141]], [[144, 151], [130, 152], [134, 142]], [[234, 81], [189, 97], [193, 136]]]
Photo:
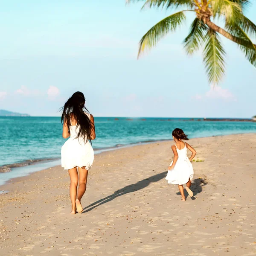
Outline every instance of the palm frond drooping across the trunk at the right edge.
[[238, 41], [239, 48], [242, 50], [242, 52], [244, 52], [247, 60], [250, 61], [250, 63], [253, 64], [254, 67], [256, 67], [256, 47], [248, 37], [247, 33], [240, 26], [237, 25], [226, 26], [226, 28], [231, 35], [234, 35], [241, 41], [243, 41], [243, 44], [239, 44]]

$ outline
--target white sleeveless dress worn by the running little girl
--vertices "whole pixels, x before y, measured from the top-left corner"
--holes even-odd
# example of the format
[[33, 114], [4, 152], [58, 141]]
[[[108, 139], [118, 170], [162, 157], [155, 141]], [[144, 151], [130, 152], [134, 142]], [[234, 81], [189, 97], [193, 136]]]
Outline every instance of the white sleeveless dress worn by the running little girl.
[[[175, 147], [177, 148], [176, 145]], [[187, 157], [186, 143], [184, 148], [177, 148], [177, 153], [178, 160], [174, 168], [170, 171], [168, 170], [166, 180], [168, 180], [168, 183], [170, 184], [182, 185], [187, 183], [189, 179], [192, 181], [194, 170], [192, 167], [192, 163], [190, 163], [189, 158]], [[172, 166], [172, 163], [170, 164], [170, 166]]]

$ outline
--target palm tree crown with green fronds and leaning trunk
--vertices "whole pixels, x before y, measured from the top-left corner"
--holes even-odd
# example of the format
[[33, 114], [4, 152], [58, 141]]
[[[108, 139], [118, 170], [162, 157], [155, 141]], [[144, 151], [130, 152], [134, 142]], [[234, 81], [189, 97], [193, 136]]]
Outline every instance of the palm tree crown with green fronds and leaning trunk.
[[[256, 37], [256, 25], [244, 16], [244, 9], [250, 0], [127, 0], [128, 3], [144, 1], [146, 6], [178, 8], [176, 12], [154, 25], [140, 40], [138, 58], [145, 49], [151, 49], [168, 32], [174, 32], [186, 19], [186, 12], [194, 12], [195, 20], [189, 35], [183, 41], [188, 55], [203, 47], [203, 61], [208, 80], [217, 84], [225, 73], [225, 55], [219, 35], [236, 43], [245, 57], [256, 67], [256, 44], [250, 37]], [[224, 29], [213, 21], [224, 21]]]

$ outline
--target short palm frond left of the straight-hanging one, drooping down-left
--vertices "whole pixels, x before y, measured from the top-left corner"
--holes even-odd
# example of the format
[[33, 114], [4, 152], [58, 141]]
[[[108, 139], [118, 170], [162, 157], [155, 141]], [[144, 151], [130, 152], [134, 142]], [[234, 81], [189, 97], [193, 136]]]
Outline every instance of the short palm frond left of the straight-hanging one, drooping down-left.
[[187, 54], [192, 55], [199, 49], [202, 42], [204, 41], [204, 37], [207, 31], [208, 28], [204, 22], [198, 18], [195, 18], [191, 24], [189, 35], [183, 41]]

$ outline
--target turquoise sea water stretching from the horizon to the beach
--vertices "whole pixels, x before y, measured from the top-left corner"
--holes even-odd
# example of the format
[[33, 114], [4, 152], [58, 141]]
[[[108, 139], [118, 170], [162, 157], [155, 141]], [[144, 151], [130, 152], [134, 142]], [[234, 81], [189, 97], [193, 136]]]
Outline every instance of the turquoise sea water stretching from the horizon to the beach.
[[[182, 128], [190, 138], [256, 132], [256, 122], [191, 121], [181, 118], [116, 120], [114, 117], [96, 117], [95, 126], [96, 140], [92, 144], [96, 151], [135, 143], [169, 140], [172, 139], [174, 128]], [[61, 156], [61, 146], [65, 139], [62, 138], [59, 117], [0, 117], [0, 131], [0, 166], [26, 160], [59, 159]], [[36, 169], [35, 166], [29, 168], [31, 171]], [[0, 180], [6, 180], [4, 175], [7, 174], [0, 173]], [[12, 175], [9, 173], [8, 177], [13, 175], [14, 172]]]

